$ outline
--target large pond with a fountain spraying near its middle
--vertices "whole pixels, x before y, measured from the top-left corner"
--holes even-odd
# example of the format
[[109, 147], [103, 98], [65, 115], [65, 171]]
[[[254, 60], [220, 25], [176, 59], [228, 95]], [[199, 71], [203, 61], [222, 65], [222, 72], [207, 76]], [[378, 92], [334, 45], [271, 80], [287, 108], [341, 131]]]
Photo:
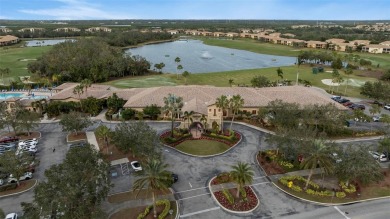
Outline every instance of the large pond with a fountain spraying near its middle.
[[180, 58], [183, 71], [190, 73], [221, 72], [242, 69], [269, 68], [294, 65], [295, 57], [264, 55], [244, 50], [203, 44], [200, 40], [174, 41], [145, 45], [126, 50], [127, 54], [140, 55], [154, 64], [163, 62], [164, 73], [177, 73], [175, 58]]

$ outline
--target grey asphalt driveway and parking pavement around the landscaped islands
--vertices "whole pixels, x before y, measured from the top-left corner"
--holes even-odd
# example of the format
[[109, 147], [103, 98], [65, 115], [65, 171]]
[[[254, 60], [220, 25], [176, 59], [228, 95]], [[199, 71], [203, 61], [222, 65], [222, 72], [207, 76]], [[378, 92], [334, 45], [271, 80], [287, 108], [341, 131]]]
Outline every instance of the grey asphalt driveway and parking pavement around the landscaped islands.
[[[94, 124], [88, 130], [93, 130], [100, 123]], [[111, 129], [114, 123], [103, 123]], [[170, 128], [170, 123], [149, 123], [158, 133]], [[213, 158], [195, 158], [183, 155], [169, 148], [163, 148], [163, 156], [169, 164], [169, 169], [179, 175], [179, 181], [173, 185], [175, 197], [179, 201], [181, 218], [237, 218], [237, 215], [227, 213], [214, 202], [207, 188], [212, 177], [223, 171], [229, 171], [230, 166], [237, 161], [248, 162], [255, 170], [253, 189], [260, 198], [260, 206], [252, 213], [240, 218], [389, 218], [390, 199], [363, 202], [348, 206], [323, 207], [291, 198], [275, 188], [264, 177], [257, 167], [255, 155], [260, 149], [268, 148], [264, 142], [265, 134], [249, 127], [234, 124], [233, 128], [244, 136], [242, 142], [227, 153]], [[43, 180], [44, 170], [53, 164], [60, 163], [66, 155], [66, 134], [58, 124], [41, 124], [39, 130], [42, 139], [39, 143], [38, 158], [40, 165], [34, 177]], [[374, 143], [375, 141], [369, 142]], [[367, 143], [365, 143], [367, 144]], [[341, 144], [344, 145], [344, 144]], [[52, 148], [56, 147], [53, 153]], [[113, 192], [125, 191], [131, 188], [132, 173], [115, 183]], [[115, 182], [115, 181], [114, 181]], [[21, 202], [33, 200], [33, 192], [1, 198], [0, 208], [6, 213], [21, 213]]]

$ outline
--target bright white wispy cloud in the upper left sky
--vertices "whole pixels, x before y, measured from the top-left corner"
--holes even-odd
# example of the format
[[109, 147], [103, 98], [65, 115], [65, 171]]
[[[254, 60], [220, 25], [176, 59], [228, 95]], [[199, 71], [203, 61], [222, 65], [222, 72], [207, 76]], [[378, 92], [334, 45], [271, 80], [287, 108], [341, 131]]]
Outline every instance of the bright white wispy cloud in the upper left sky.
[[83, 0], [56, 0], [62, 5], [57, 8], [49, 9], [23, 9], [19, 12], [49, 16], [60, 20], [83, 20], [83, 19], [130, 19], [128, 15], [119, 13], [110, 13], [101, 9], [100, 5], [88, 3]]

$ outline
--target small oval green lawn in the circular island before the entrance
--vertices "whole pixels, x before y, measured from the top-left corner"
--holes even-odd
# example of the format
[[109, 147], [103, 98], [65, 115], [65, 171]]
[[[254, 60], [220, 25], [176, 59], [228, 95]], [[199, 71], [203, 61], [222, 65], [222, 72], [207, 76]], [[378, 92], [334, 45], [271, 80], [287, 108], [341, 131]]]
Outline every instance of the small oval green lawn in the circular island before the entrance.
[[191, 140], [184, 141], [175, 148], [184, 153], [205, 156], [222, 153], [228, 150], [230, 147], [218, 141]]

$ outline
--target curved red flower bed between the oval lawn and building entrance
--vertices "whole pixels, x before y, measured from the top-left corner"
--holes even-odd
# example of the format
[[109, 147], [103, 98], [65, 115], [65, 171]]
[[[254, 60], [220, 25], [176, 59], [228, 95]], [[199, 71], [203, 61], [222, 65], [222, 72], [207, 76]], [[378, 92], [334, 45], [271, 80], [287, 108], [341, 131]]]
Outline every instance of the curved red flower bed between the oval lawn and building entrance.
[[[202, 135], [200, 138], [193, 138], [191, 134], [183, 134], [183, 135], [174, 135], [174, 138], [172, 139], [171, 137], [171, 131], [166, 131], [163, 134], [160, 135], [160, 140], [164, 142], [165, 144], [171, 146], [171, 147], [176, 147], [180, 143], [184, 141], [196, 141], [196, 140], [210, 140], [210, 141], [218, 141], [221, 143], [224, 143], [226, 145], [234, 146], [237, 144], [237, 142], [241, 139], [241, 135], [237, 132], [234, 133], [234, 138], [232, 141], [229, 141], [226, 136], [220, 136], [220, 135]], [[169, 139], [169, 140], [168, 140]]]

